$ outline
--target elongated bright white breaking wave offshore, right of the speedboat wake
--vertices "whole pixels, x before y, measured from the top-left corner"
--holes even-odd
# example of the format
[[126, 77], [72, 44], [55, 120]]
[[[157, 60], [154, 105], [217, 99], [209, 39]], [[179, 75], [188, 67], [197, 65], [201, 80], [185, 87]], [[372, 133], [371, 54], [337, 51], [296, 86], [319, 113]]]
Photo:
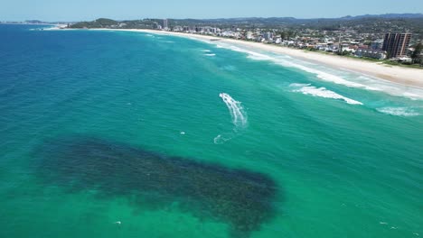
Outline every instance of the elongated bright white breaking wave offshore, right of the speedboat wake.
[[297, 87], [292, 90], [293, 92], [302, 93], [304, 95], [318, 96], [324, 98], [333, 98], [338, 100], [343, 100], [347, 104], [351, 105], [362, 105], [361, 102], [348, 98], [346, 96], [339, 95], [334, 91], [328, 90], [325, 87], [314, 87], [310, 84], [291, 84], [289, 87]]

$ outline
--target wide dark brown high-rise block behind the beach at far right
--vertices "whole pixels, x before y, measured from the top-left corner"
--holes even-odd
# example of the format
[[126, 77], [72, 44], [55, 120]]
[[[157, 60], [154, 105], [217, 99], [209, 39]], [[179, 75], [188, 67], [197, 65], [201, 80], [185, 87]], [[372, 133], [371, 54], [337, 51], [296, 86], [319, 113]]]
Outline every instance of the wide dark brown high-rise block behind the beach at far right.
[[383, 40], [382, 50], [388, 52], [389, 58], [398, 58], [406, 55], [409, 41], [411, 40], [410, 33], [386, 33]]

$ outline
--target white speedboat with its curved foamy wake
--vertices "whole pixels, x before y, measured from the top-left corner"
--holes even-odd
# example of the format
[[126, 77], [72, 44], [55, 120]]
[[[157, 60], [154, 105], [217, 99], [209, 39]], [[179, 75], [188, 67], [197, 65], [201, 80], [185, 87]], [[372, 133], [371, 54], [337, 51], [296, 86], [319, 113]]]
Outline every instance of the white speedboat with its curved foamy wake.
[[230, 112], [230, 117], [234, 127], [232, 128], [231, 133], [222, 133], [214, 138], [215, 144], [221, 144], [229, 141], [234, 138], [237, 133], [240, 133], [243, 129], [248, 126], [248, 117], [247, 113], [244, 111], [241, 103], [233, 99], [229, 94], [221, 93], [219, 94], [225, 105], [228, 107]]

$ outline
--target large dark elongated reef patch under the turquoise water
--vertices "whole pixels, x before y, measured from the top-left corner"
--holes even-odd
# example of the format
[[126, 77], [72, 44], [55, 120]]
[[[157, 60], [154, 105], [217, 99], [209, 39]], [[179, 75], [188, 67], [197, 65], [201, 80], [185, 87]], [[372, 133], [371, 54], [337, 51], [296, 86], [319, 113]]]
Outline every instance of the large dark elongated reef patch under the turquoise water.
[[96, 190], [100, 197], [136, 197], [132, 201], [141, 209], [176, 202], [201, 219], [230, 224], [234, 236], [248, 236], [274, 214], [275, 182], [249, 170], [80, 136], [44, 142], [35, 157], [43, 183], [75, 192]]

